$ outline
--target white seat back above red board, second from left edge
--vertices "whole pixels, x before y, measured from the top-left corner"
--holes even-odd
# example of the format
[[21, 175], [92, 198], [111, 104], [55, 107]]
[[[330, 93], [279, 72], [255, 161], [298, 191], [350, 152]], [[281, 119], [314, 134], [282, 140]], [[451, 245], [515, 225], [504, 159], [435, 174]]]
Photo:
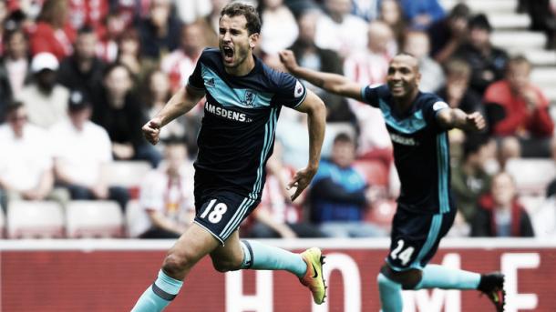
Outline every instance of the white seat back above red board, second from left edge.
[[118, 203], [75, 200], [66, 207], [67, 237], [122, 237], [123, 216]]

